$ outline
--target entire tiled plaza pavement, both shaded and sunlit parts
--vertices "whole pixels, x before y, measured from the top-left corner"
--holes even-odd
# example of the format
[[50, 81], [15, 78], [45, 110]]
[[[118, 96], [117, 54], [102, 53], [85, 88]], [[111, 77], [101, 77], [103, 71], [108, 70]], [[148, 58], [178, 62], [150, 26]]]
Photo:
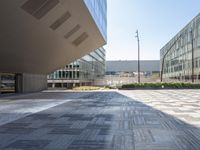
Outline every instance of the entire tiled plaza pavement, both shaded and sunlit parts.
[[0, 149], [199, 150], [200, 90], [0, 98]]

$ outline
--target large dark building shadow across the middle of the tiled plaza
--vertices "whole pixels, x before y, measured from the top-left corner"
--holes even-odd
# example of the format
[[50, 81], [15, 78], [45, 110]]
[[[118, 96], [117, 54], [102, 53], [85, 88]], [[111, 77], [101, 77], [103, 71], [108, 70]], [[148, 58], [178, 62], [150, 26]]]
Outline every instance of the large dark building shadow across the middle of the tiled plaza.
[[[118, 92], [73, 94], [72, 101], [0, 126], [0, 149], [200, 149], [200, 129], [189, 122]], [[45, 93], [30, 99], [58, 95]]]

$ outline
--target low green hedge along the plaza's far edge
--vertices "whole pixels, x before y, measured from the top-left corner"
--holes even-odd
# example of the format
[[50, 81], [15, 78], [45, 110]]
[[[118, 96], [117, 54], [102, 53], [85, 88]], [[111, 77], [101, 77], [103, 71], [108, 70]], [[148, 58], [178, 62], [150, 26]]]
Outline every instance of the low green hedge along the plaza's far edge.
[[200, 89], [200, 83], [132, 83], [121, 89]]

